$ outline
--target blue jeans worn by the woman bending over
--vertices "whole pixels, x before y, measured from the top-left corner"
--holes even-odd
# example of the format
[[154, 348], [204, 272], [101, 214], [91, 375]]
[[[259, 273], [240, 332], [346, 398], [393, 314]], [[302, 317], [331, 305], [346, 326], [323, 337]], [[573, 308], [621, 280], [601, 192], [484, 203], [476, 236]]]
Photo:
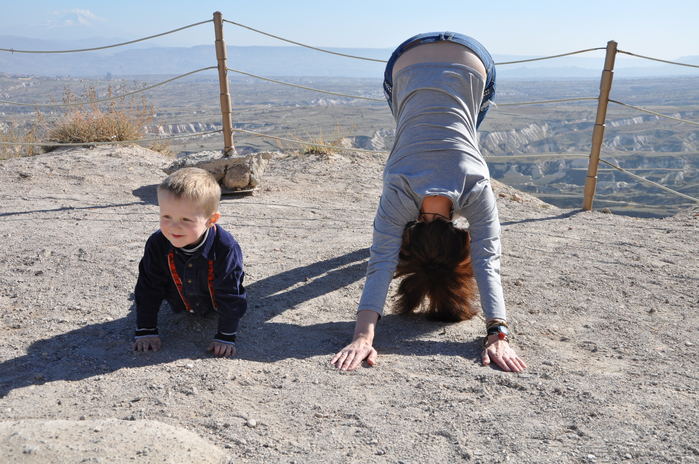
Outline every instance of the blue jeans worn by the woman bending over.
[[476, 121], [476, 129], [480, 127], [485, 115], [490, 109], [490, 101], [495, 97], [495, 62], [493, 58], [476, 39], [472, 39], [463, 34], [457, 34], [455, 32], [427, 32], [424, 34], [418, 34], [413, 36], [400, 44], [398, 48], [395, 49], [391, 58], [386, 64], [386, 71], [384, 72], [383, 90], [386, 100], [388, 101], [388, 106], [391, 108], [391, 113], [393, 113], [393, 66], [396, 64], [396, 60], [411, 48], [417, 45], [423, 45], [434, 42], [454, 42], [461, 44], [471, 50], [473, 53], [480, 58], [485, 66], [487, 73], [485, 79], [485, 91], [483, 92], [483, 101], [481, 102], [481, 109], [478, 113], [478, 119]]

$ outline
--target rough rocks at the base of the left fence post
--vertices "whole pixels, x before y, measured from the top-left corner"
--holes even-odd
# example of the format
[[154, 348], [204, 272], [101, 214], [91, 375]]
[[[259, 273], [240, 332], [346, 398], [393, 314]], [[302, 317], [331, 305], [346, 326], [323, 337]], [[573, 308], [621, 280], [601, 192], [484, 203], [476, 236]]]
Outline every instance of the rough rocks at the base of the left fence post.
[[224, 188], [253, 189], [262, 183], [262, 175], [272, 157], [272, 153], [226, 157], [222, 153], [205, 151], [180, 158], [163, 171], [172, 174], [178, 169], [196, 167], [209, 171]]

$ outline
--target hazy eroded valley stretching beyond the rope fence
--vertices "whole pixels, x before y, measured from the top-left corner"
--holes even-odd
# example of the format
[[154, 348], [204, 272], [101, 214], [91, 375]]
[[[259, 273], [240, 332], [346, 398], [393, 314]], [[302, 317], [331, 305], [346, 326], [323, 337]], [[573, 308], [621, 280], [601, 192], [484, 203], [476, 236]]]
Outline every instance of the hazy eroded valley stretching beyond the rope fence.
[[[168, 76], [132, 76], [126, 82], [152, 85]], [[388, 151], [394, 121], [384, 102], [326, 95], [231, 74], [234, 129], [287, 140], [332, 144], [346, 138], [354, 148]], [[382, 99], [381, 82], [368, 78], [278, 78], [321, 90]], [[106, 89], [122, 81], [102, 79], [0, 76], [0, 99], [16, 102], [60, 101], [69, 86], [78, 94], [88, 85]], [[497, 105], [480, 130], [481, 149], [491, 175], [560, 207], [578, 208], [587, 174], [597, 102], [509, 104], [597, 97], [599, 82], [590, 80], [498, 82]], [[148, 93], [154, 126], [148, 137], [219, 130], [216, 76], [201, 74], [157, 87]], [[674, 118], [699, 122], [699, 77], [619, 79], [613, 100]], [[0, 107], [0, 126], [30, 127], [32, 107]], [[58, 112], [42, 112], [45, 119]], [[298, 144], [234, 133], [239, 155], [258, 151], [295, 152]], [[178, 139], [170, 150], [180, 156], [222, 147], [220, 134]], [[699, 197], [699, 131], [685, 124], [610, 103], [601, 158], [631, 173], [685, 195]], [[600, 165], [593, 207], [615, 214], [664, 217], [694, 202], [646, 184], [605, 164]]]

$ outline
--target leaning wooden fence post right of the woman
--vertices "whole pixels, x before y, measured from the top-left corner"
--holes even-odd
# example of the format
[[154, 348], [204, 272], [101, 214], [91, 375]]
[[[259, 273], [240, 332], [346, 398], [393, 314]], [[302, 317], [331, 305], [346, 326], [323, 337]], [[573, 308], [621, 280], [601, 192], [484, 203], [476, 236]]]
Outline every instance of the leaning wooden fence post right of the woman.
[[595, 128], [592, 130], [592, 149], [590, 150], [590, 164], [587, 166], [587, 179], [585, 179], [585, 197], [583, 209], [592, 209], [592, 200], [595, 197], [597, 187], [597, 168], [599, 167], [599, 154], [604, 140], [604, 123], [607, 120], [607, 106], [609, 106], [609, 92], [612, 90], [614, 78], [614, 60], [616, 59], [617, 43], [613, 40], [607, 42], [607, 56], [604, 60], [604, 71], [599, 85], [599, 102], [597, 103], [597, 118]]

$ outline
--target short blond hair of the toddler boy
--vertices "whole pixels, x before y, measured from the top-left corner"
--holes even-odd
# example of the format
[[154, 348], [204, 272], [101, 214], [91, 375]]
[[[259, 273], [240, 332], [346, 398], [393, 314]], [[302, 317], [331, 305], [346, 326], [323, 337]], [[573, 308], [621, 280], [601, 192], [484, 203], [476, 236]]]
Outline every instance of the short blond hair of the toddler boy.
[[159, 186], [158, 195], [169, 193], [201, 207], [207, 216], [218, 211], [221, 187], [213, 175], [199, 168], [183, 168], [168, 176]]

